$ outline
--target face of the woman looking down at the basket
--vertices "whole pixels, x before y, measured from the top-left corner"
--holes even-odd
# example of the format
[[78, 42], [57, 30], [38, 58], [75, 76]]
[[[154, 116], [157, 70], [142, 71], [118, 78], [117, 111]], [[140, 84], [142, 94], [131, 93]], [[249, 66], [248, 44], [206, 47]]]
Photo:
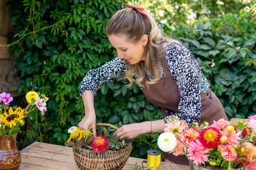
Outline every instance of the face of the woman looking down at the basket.
[[138, 42], [133, 43], [127, 40], [125, 35], [108, 36], [109, 42], [116, 49], [118, 58], [124, 58], [132, 65], [139, 63], [141, 60], [145, 61], [147, 38], [147, 35], [143, 35]]

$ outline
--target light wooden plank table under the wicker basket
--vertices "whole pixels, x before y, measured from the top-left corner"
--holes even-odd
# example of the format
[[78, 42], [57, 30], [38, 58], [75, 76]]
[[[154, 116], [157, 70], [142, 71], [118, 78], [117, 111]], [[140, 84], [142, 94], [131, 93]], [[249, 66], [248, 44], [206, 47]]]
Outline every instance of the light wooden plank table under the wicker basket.
[[[49, 169], [77, 169], [72, 148], [56, 144], [38, 143], [30, 144], [20, 151], [20, 170], [49, 170]], [[129, 157], [123, 170], [131, 170], [134, 165], [147, 167], [147, 160]], [[189, 170], [189, 166], [177, 165], [181, 170]]]

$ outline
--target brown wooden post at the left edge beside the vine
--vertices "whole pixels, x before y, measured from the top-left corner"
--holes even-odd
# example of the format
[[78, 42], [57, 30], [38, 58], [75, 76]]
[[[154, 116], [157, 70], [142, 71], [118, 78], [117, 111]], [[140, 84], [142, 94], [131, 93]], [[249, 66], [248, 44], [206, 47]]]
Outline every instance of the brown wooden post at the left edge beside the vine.
[[[6, 6], [8, 0], [0, 0], [0, 44], [6, 45], [9, 31], [11, 31], [11, 9]], [[21, 95], [18, 93], [20, 78], [15, 70], [15, 58], [10, 58], [8, 47], [0, 46], [0, 93], [11, 93], [12, 97]]]

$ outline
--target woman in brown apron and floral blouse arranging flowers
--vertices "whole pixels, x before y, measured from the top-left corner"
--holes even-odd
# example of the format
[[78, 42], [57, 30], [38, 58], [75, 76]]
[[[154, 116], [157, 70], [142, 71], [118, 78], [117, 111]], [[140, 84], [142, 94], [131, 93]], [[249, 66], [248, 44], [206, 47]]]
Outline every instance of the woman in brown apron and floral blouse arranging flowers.
[[[106, 29], [118, 57], [90, 70], [80, 84], [85, 116], [79, 127], [87, 130], [96, 123], [93, 96], [104, 82], [122, 75], [129, 80], [128, 86], [136, 82], [148, 101], [161, 107], [163, 116], [162, 120], [122, 126], [114, 134], [120, 138], [163, 132], [164, 121], [174, 116], [189, 125], [227, 119], [191, 52], [179, 42], [164, 38], [155, 20], [143, 8], [124, 5], [129, 8], [116, 12]], [[95, 134], [95, 127], [92, 131]], [[165, 158], [173, 161], [168, 155], [164, 153]]]

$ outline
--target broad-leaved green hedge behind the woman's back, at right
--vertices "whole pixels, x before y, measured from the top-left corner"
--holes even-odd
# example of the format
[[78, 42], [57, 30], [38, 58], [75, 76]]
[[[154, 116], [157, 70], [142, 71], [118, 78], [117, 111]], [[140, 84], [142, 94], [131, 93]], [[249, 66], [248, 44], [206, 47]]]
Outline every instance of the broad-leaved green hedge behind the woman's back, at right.
[[195, 55], [228, 118], [256, 114], [255, 10], [220, 15], [206, 24], [199, 20], [196, 27], [176, 25], [172, 31]]

